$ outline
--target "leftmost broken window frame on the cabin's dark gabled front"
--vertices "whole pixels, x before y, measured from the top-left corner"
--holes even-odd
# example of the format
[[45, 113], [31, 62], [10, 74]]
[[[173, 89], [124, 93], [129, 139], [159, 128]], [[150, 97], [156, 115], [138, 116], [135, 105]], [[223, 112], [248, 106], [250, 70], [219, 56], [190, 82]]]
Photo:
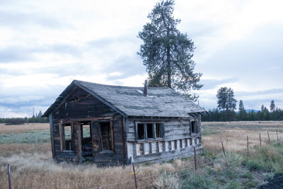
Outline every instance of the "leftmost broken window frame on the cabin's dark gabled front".
[[[60, 134], [60, 146], [61, 151], [74, 151], [74, 127], [73, 122], [60, 122], [59, 134]], [[65, 138], [65, 127], [71, 127], [71, 139], [67, 139], [69, 142], [69, 149], [67, 149], [66, 138]]]

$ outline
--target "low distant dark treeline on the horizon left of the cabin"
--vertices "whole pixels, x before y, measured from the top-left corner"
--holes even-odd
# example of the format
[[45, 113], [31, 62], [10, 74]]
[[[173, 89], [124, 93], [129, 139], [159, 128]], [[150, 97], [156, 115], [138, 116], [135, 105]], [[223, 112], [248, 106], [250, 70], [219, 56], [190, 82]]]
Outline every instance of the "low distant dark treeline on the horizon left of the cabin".
[[23, 125], [25, 123], [35, 123], [35, 122], [45, 123], [45, 122], [48, 122], [48, 119], [47, 118], [37, 118], [37, 117], [0, 118], [0, 123], [6, 123], [6, 125]]

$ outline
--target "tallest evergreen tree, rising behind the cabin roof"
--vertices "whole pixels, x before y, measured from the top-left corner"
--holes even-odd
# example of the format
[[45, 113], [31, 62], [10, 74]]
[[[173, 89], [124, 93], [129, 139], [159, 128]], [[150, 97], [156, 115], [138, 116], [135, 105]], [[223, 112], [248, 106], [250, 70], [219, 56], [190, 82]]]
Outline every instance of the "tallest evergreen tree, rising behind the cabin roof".
[[193, 101], [198, 96], [192, 90], [202, 88], [201, 73], [194, 73], [192, 60], [194, 43], [187, 34], [176, 28], [180, 19], [173, 17], [174, 1], [160, 1], [149, 13], [151, 23], [146, 23], [138, 38], [144, 41], [140, 51], [146, 71], [149, 74], [149, 86], [168, 86], [185, 94]]

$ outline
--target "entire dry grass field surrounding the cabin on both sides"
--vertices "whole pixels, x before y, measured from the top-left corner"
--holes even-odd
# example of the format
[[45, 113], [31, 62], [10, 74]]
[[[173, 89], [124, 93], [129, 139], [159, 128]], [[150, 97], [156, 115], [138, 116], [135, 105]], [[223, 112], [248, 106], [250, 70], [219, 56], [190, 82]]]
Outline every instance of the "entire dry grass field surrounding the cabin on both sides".
[[[262, 146], [267, 146], [268, 143], [267, 130], [270, 132], [272, 141], [277, 140], [276, 129], [278, 130], [279, 140], [282, 142], [283, 139], [283, 122], [203, 122], [202, 126], [204, 154], [197, 157], [198, 164], [207, 164], [207, 162], [217, 160], [216, 156], [223, 156], [221, 155], [220, 139], [223, 139], [224, 147], [231, 159], [235, 159], [238, 155], [233, 155], [233, 152], [229, 154], [229, 151], [238, 151], [238, 153], [246, 151], [247, 134], [250, 148], [259, 144], [259, 132], [262, 136]], [[52, 160], [50, 142], [47, 141], [48, 127], [48, 124], [0, 125], [0, 188], [8, 188], [7, 164], [11, 164], [12, 186], [15, 189], [100, 188], [101, 185], [108, 185], [105, 188], [134, 188], [133, 176], [130, 174], [132, 173], [132, 166], [98, 167], [95, 164], [78, 166], [55, 163]], [[224, 164], [229, 164], [231, 167], [234, 164], [236, 165], [234, 161], [230, 164], [229, 160], [224, 159], [218, 159], [219, 163], [213, 164], [212, 167], [199, 168], [196, 174], [193, 169], [187, 170], [187, 167], [193, 166], [192, 160], [192, 158], [188, 158], [163, 164], [139, 164], [136, 168], [137, 178], [163, 175], [140, 179], [138, 185], [142, 187], [151, 184], [144, 188], [184, 188], [185, 185], [185, 188], [190, 188], [184, 183], [182, 186], [181, 181], [187, 179], [184, 177], [185, 175], [190, 175], [190, 179], [187, 180], [190, 184], [198, 184], [192, 183], [192, 181], [197, 181], [208, 184], [209, 188], [217, 188], [219, 185], [237, 186], [237, 182], [246, 182], [245, 185], [253, 185], [253, 183], [258, 185], [261, 182], [262, 176], [256, 178], [250, 175], [246, 168], [237, 173], [243, 175], [243, 178], [236, 178], [238, 179], [236, 181], [234, 178], [229, 178], [229, 181], [221, 181], [221, 178], [226, 179], [228, 174], [225, 172], [222, 175], [224, 169], [221, 166]], [[237, 168], [237, 166], [238, 164], [235, 167]], [[237, 172], [237, 170], [233, 171]], [[177, 172], [165, 174], [171, 171]], [[218, 171], [219, 178], [207, 177], [206, 174], [210, 174], [211, 171]], [[185, 174], [180, 175], [179, 173]], [[213, 174], [215, 175], [215, 173]], [[268, 176], [268, 174], [265, 175], [265, 177]], [[214, 185], [216, 179], [219, 182]], [[126, 182], [119, 185], [110, 185], [124, 181]], [[251, 181], [253, 183], [248, 183]]]

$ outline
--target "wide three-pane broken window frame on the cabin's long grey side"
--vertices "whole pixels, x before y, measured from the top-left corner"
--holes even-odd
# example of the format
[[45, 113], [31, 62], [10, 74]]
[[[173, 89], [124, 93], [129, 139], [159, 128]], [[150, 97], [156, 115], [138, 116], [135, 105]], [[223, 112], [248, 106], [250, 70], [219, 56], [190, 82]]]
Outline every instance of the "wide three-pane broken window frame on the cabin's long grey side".
[[[151, 124], [152, 126], [152, 138], [149, 138], [148, 137], [148, 132], [147, 132], [147, 130], [148, 130], [148, 127], [150, 127], [149, 126], [149, 124]], [[160, 135], [160, 137], [156, 137], [156, 134], [157, 134], [157, 132], [156, 132], [156, 125], [159, 125], [158, 127], [159, 127], [159, 135]], [[146, 141], [146, 140], [163, 140], [164, 139], [164, 123], [163, 122], [135, 122], [135, 125], [136, 125], [136, 127], [135, 127], [135, 134], [136, 134], [136, 140], [137, 141]], [[143, 125], [143, 131], [144, 131], [144, 137], [141, 139], [140, 137], [139, 137], [139, 125]]]

